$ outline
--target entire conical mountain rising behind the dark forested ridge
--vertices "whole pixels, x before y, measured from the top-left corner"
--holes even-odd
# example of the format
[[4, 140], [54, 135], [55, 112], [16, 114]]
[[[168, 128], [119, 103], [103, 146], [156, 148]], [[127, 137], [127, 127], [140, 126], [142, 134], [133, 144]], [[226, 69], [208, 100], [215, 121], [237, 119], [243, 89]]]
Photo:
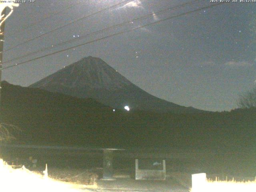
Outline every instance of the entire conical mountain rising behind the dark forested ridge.
[[158, 112], [202, 112], [152, 96], [132, 84], [100, 58], [87, 57], [32, 84], [50, 92], [60, 92], [78, 98], [94, 98], [113, 108], [149, 110]]

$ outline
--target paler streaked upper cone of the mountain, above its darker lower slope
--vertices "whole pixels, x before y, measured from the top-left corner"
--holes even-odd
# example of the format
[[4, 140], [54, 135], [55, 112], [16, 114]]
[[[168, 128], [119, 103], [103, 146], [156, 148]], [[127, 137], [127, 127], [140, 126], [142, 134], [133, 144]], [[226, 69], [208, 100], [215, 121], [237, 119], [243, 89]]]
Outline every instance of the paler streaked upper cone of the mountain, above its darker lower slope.
[[31, 87], [47, 89], [48, 86], [54, 85], [117, 90], [132, 83], [100, 58], [89, 56], [43, 78]]

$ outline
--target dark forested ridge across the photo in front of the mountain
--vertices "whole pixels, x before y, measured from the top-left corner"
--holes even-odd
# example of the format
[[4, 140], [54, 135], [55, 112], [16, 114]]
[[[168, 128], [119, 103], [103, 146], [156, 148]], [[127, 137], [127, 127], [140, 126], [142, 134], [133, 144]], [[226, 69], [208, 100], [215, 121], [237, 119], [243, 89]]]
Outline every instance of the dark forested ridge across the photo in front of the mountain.
[[255, 148], [256, 109], [196, 114], [116, 110], [80, 99], [2, 83], [3, 122], [26, 144], [103, 147]]

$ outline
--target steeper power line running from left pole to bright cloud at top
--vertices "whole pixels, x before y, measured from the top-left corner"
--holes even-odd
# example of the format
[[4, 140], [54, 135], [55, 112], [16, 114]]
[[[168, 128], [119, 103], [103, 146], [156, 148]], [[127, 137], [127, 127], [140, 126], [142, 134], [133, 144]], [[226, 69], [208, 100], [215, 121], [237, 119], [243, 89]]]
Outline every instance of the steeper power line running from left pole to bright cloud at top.
[[16, 46], [13, 46], [13, 47], [11, 47], [11, 48], [9, 48], [9, 49], [4, 50], [3, 52], [7, 52], [7, 51], [9, 51], [9, 50], [12, 50], [12, 49], [14, 49], [14, 48], [16, 48], [16, 47], [18, 47], [18, 46], [20, 46], [20, 45], [23, 45], [23, 44], [27, 43], [27, 42], [30, 42], [30, 41], [32, 41], [32, 40], [35, 40], [35, 39], [40, 38], [40, 37], [42, 37], [42, 36], [45, 36], [45, 35], [47, 35], [47, 34], [49, 34], [49, 33], [51, 33], [51, 32], [54, 32], [54, 31], [56, 31], [56, 30], [59, 30], [59, 29], [64, 28], [64, 27], [66, 27], [66, 26], [69, 26], [69, 25], [71, 25], [71, 24], [73, 24], [73, 23], [75, 23], [75, 22], [78, 22], [78, 21], [80, 21], [80, 20], [83, 20], [83, 19], [88, 18], [88, 17], [93, 16], [93, 15], [96, 15], [96, 14], [98, 14], [98, 13], [100, 13], [100, 12], [103, 12], [103, 11], [105, 11], [105, 10], [108, 10], [108, 9], [110, 9], [110, 8], [113, 8], [113, 7], [115, 7], [115, 6], [118, 6], [118, 5], [123, 4], [123, 3], [125, 3], [125, 2], [128, 2], [128, 1], [130, 1], [130, 0], [124, 0], [123, 2], [114, 4], [114, 5], [110, 6], [110, 7], [104, 8], [104, 9], [99, 10], [99, 11], [97, 11], [97, 12], [94, 12], [94, 13], [92, 13], [92, 14], [83, 16], [82, 18], [79, 18], [79, 19], [74, 20], [74, 21], [72, 21], [72, 22], [70, 22], [70, 23], [68, 23], [68, 24], [65, 24], [65, 25], [62, 25], [62, 26], [60, 26], [60, 27], [57, 27], [57, 28], [55, 28], [55, 29], [53, 29], [53, 30], [50, 30], [50, 31], [44, 33], [44, 34], [41, 34], [40, 36], [37, 36], [37, 37], [34, 37], [34, 38], [30, 38], [30, 39], [26, 40], [25, 42], [22, 42], [22, 43], [20, 43], [20, 44], [17, 44]]

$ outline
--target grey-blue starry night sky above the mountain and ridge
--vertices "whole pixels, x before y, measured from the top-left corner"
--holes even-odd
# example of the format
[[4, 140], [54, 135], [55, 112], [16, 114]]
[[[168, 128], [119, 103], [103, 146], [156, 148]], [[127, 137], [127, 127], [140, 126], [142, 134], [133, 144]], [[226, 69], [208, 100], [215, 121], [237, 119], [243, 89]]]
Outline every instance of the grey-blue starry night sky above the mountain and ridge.
[[[119, 2], [122, 0], [21, 3], [6, 21], [4, 50]], [[4, 52], [3, 60], [7, 61], [74, 39], [69, 44], [4, 63], [3, 67], [216, 4], [203, 0], [154, 14], [184, 2], [191, 1], [131, 0]], [[67, 9], [69, 6], [72, 7]], [[60, 10], [64, 11], [50, 16]], [[152, 16], [75, 40], [147, 14]], [[43, 19], [46, 16], [50, 17]], [[3, 71], [3, 80], [28, 86], [81, 58], [94, 56], [159, 98], [203, 110], [231, 110], [236, 108], [239, 94], [256, 86], [256, 34], [252, 31], [255, 18], [256, 2], [223, 3], [8, 68]], [[24, 29], [34, 22], [37, 24]]]

